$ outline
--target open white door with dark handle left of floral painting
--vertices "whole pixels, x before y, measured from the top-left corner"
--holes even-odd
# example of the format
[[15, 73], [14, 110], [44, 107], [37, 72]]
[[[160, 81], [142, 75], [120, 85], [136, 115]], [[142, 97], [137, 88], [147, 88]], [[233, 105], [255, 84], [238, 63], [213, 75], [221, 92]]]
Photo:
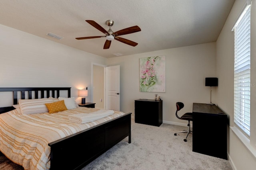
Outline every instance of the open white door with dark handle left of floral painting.
[[106, 69], [106, 109], [120, 111], [120, 66]]

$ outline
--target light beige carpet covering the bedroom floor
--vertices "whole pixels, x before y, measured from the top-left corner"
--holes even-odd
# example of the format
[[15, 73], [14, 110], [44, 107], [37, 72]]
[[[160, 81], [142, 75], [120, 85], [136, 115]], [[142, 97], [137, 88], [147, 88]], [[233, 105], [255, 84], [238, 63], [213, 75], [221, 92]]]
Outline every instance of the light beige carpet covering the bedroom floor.
[[[228, 160], [192, 152], [192, 135], [188, 142], [183, 141], [185, 134], [174, 136], [184, 129], [167, 124], [143, 125], [132, 120], [132, 143], [124, 139], [82, 170], [232, 170]], [[4, 158], [0, 156], [0, 160]], [[20, 170], [15, 165], [0, 162], [0, 169]]]

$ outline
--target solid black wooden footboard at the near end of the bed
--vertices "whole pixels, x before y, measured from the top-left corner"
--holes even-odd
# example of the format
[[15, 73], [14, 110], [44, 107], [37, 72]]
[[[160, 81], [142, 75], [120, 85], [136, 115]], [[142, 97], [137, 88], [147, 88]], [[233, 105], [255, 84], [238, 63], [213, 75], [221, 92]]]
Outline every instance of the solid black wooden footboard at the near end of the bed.
[[131, 114], [49, 143], [50, 170], [81, 169], [124, 138], [131, 143]]

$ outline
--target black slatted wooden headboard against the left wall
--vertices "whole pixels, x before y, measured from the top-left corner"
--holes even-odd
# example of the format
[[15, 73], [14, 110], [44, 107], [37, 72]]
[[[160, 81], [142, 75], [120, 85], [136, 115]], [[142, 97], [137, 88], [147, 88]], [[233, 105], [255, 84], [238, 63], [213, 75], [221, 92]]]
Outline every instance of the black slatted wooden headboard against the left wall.
[[[60, 97], [60, 90], [68, 90], [68, 98], [70, 98], [70, 89], [71, 87], [31, 87], [31, 88], [24, 88], [24, 87], [15, 87], [15, 88], [0, 88], [0, 92], [13, 92], [13, 104], [18, 104], [18, 92], [21, 92], [21, 99], [25, 99], [25, 93], [28, 92], [28, 99], [32, 99], [32, 92], [34, 92], [34, 98], [58, 98]], [[46, 91], [46, 96], [44, 92]], [[52, 96], [50, 96], [50, 92]], [[55, 92], [57, 92], [57, 96], [55, 96]], [[7, 111], [11, 111], [15, 109], [14, 107], [0, 107], [0, 113], [5, 113]]]

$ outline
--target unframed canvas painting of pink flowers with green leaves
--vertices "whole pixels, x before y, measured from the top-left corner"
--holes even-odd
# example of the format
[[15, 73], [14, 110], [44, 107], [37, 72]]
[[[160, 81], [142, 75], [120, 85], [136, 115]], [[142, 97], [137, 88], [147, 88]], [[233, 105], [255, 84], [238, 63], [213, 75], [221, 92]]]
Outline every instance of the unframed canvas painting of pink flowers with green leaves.
[[165, 92], [165, 56], [140, 58], [140, 92]]

